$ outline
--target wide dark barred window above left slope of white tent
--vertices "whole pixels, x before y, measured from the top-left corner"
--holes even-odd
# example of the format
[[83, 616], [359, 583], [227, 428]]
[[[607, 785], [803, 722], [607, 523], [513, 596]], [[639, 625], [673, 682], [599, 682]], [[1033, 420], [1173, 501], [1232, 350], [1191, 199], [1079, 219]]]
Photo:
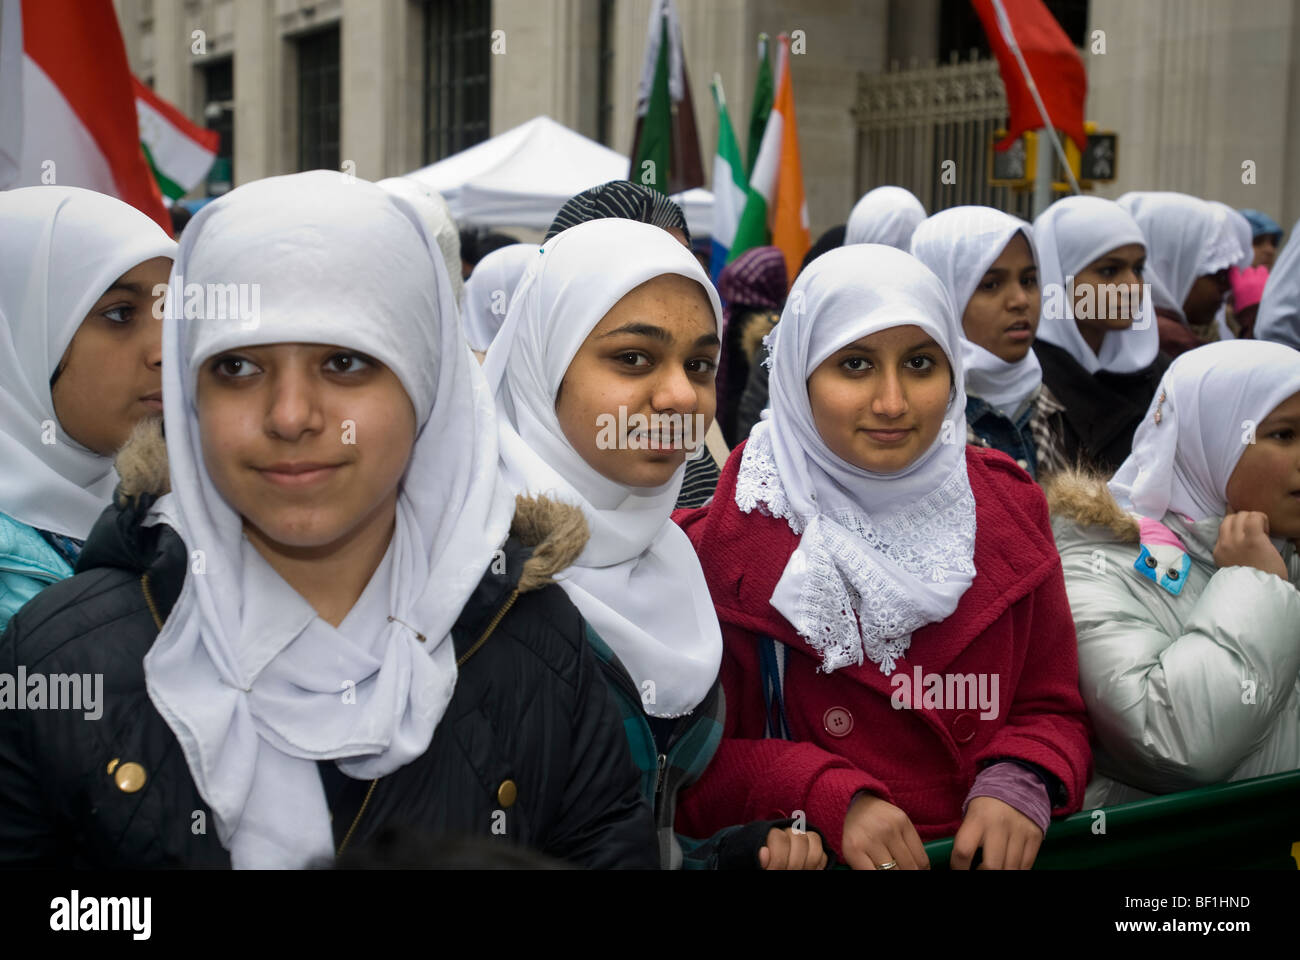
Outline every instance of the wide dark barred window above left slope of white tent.
[[424, 163], [486, 140], [491, 0], [425, 0]]

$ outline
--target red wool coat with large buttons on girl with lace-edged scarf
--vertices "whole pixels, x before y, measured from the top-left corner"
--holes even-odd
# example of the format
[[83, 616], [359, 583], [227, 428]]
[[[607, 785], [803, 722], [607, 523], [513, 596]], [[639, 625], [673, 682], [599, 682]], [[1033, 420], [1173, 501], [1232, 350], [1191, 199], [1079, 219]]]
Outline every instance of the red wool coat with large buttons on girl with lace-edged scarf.
[[[838, 853], [859, 790], [901, 807], [922, 839], [948, 836], [984, 761], [1018, 758], [1063, 786], [1054, 814], [1083, 801], [1092, 766], [1079, 695], [1074, 620], [1061, 557], [1039, 487], [1009, 457], [967, 447], [975, 494], [975, 579], [946, 620], [918, 630], [898, 673], [996, 674], [997, 715], [980, 709], [894, 709], [890, 676], [871, 661], [827, 675], [822, 658], [768, 602], [798, 545], [784, 519], [736, 506], [744, 444], [732, 451], [711, 506], [673, 519], [699, 553], [723, 624], [723, 741], [681, 795], [677, 829], [710, 836], [732, 823], [796, 816]], [[785, 710], [793, 740], [763, 739], [759, 636], [789, 648]], [[991, 682], [985, 689], [991, 687]], [[918, 697], [920, 695], [918, 693]], [[901, 697], [901, 695], [900, 695]]]

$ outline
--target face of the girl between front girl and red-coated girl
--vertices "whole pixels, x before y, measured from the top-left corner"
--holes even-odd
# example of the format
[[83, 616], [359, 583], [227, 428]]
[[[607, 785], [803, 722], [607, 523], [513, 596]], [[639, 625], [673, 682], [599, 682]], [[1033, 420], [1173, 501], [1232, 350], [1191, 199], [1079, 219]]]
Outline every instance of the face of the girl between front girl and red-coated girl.
[[[668, 483], [686, 459], [685, 441], [703, 442], [714, 420], [718, 349], [712, 304], [698, 282], [666, 273], [633, 287], [564, 373], [555, 415], [566, 438], [608, 480]], [[646, 425], [650, 436], [638, 429]]]

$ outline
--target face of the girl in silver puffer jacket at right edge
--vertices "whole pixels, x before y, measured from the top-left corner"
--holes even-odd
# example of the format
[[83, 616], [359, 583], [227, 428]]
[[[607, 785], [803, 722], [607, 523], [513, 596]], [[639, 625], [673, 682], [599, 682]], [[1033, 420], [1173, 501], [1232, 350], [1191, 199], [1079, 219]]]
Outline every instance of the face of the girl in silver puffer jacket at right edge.
[[1228, 510], [1265, 514], [1270, 536], [1300, 539], [1300, 393], [1258, 423], [1226, 493]]

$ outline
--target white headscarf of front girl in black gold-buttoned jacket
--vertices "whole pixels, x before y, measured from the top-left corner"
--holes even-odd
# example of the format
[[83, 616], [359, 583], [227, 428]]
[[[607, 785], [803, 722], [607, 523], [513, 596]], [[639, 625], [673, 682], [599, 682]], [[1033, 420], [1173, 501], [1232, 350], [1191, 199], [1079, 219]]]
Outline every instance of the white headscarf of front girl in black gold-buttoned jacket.
[[[182, 319], [182, 277], [260, 285], [260, 313], [252, 324]], [[359, 779], [393, 773], [428, 749], [451, 700], [450, 631], [514, 513], [491, 395], [436, 238], [373, 183], [313, 170], [238, 187], [188, 225], [172, 282], [162, 402], [173, 492], [151, 519], [202, 550], [205, 568], [186, 578], [144, 676], [233, 865], [303, 866], [333, 851], [316, 761]], [[416, 411], [393, 540], [337, 628], [250, 545], [200, 446], [202, 363], [283, 342], [377, 358]]]

